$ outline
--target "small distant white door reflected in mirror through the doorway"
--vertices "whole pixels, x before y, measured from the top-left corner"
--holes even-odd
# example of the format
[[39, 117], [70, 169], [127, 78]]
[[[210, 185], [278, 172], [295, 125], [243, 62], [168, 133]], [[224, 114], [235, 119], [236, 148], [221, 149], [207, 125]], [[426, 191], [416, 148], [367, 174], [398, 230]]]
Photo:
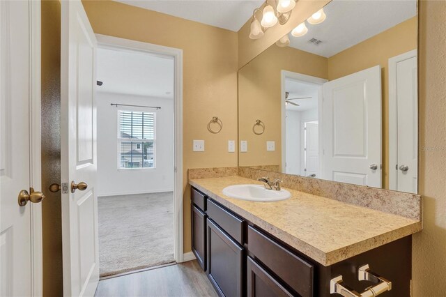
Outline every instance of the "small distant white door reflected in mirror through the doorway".
[[319, 177], [319, 125], [317, 122], [305, 123], [305, 176]]

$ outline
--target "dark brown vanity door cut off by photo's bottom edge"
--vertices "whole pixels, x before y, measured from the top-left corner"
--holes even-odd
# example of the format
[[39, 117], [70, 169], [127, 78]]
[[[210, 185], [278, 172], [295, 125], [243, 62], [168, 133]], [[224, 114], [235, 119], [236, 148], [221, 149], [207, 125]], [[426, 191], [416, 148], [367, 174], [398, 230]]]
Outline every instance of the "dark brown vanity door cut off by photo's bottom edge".
[[293, 296], [251, 257], [247, 258], [247, 289], [248, 297]]

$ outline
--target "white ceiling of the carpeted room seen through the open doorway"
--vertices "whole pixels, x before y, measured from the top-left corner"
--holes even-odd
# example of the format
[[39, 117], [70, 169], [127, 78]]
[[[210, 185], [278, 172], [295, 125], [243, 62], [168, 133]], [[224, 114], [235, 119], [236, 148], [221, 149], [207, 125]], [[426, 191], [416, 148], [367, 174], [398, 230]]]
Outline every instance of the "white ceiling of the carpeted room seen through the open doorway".
[[174, 59], [98, 49], [97, 91], [174, 98]]

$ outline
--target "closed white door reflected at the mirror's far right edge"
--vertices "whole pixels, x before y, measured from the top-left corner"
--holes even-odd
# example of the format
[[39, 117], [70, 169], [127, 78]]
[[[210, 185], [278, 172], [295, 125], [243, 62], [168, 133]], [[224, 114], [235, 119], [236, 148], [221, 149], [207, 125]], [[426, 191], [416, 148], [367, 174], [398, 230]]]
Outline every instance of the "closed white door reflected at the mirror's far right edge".
[[[417, 193], [417, 57], [397, 63], [397, 190]], [[391, 165], [392, 166], [392, 165]]]

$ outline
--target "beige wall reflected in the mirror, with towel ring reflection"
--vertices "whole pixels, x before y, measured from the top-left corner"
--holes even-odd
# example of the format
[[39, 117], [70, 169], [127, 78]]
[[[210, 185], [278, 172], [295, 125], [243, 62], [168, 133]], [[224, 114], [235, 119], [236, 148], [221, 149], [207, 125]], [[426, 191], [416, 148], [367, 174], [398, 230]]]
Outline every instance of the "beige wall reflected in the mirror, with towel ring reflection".
[[[239, 165], [281, 164], [280, 70], [337, 79], [376, 65], [381, 66], [383, 108], [383, 188], [389, 181], [388, 60], [417, 48], [417, 17], [413, 17], [339, 54], [324, 58], [291, 47], [272, 45], [239, 70], [239, 135], [248, 140], [248, 153], [240, 153]], [[264, 135], [252, 133], [255, 119], [268, 123]], [[266, 151], [266, 141], [276, 151]]]

